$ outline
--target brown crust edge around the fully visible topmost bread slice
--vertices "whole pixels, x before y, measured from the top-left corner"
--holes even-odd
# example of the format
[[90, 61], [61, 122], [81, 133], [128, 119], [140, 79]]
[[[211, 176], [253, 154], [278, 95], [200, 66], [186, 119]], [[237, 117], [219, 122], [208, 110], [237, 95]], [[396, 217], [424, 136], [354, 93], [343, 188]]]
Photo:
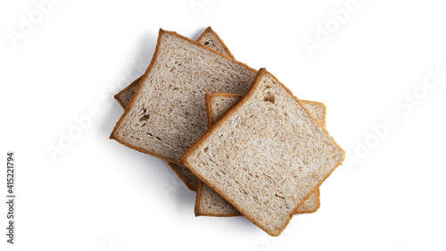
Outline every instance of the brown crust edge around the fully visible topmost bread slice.
[[[248, 91], [245, 93], [245, 96], [243, 96], [243, 97], [242, 97], [242, 98], [241, 98], [241, 99], [240, 99], [240, 100], [233, 106], [232, 109], [228, 110], [227, 113], [224, 113], [224, 114], [219, 118], [219, 120], [217, 120], [217, 121], [214, 123], [214, 126], [211, 127], [210, 129], [206, 130], [206, 131], [202, 134], [202, 137], [200, 137], [200, 138], [199, 138], [199, 139], [198, 139], [192, 146], [190, 146], [190, 147], [186, 150], [186, 152], [185, 152], [183, 155], [181, 155], [181, 157], [179, 158], [179, 162], [181, 162], [181, 163], [185, 163], [186, 166], [187, 166], [187, 168], [189, 168], [189, 170], [190, 170], [191, 172], [194, 172], [195, 176], [197, 176], [198, 179], [203, 180], [203, 179], [202, 179], [202, 175], [200, 175], [199, 173], [195, 172], [194, 169], [191, 169], [191, 168], [189, 167], [190, 164], [188, 164], [188, 163], [187, 163], [187, 160], [186, 160], [187, 155], [189, 155], [193, 150], [195, 150], [195, 148], [196, 148], [197, 146], [199, 146], [199, 145], [202, 143], [202, 141], [203, 141], [204, 139], [208, 138], [208, 137], [210, 136], [210, 134], [211, 134], [211, 131], [213, 131], [213, 130], [215, 130], [216, 128], [218, 128], [218, 127], [220, 126], [220, 124], [222, 123], [222, 121], [226, 121], [227, 118], [228, 118], [232, 113], [235, 113], [235, 111], [238, 109], [238, 107], [239, 107], [240, 105], [243, 105], [244, 102], [246, 102], [246, 100], [248, 99], [248, 97], [252, 96], [252, 90], [253, 90], [255, 87], [257, 87], [257, 85], [260, 83], [259, 79], [260, 79], [261, 77], [263, 77], [265, 74], [267, 74], [267, 72], [268, 72], [268, 71], [266, 71], [265, 68], [260, 68], [260, 71], [258, 71], [258, 73], [256, 74], [254, 80], [252, 81], [252, 85], [251, 85], [251, 87], [248, 89]], [[269, 72], [268, 72], [268, 73], [269, 73]], [[290, 90], [289, 88], [286, 88], [285, 85], [284, 85], [282, 82], [280, 82], [274, 75], [272, 75], [271, 73], [269, 73], [269, 74], [270, 74], [274, 79], [276, 79], [277, 82], [278, 82], [280, 85], [282, 85], [282, 87], [285, 88], [285, 90], [286, 90], [288, 93], [290, 93], [291, 95], [293, 95], [293, 93], [291, 92], [291, 90]], [[299, 102], [297, 102], [297, 99], [295, 99], [295, 100], [296, 100], [296, 103], [297, 103], [298, 105], [301, 105], [301, 104], [299, 104]], [[301, 107], [302, 107], [302, 106], [301, 106]], [[304, 107], [302, 107], [302, 108], [305, 109]], [[305, 111], [306, 111], [307, 113], [309, 113], [306, 109], [305, 109]], [[309, 113], [309, 114], [310, 114], [310, 113]], [[319, 184], [318, 184], [317, 186], [315, 186], [315, 188], [309, 193], [309, 195], [308, 195], [307, 197], [305, 197], [304, 199], [302, 199], [302, 202], [301, 202], [299, 205], [297, 205], [297, 206], [294, 208], [294, 210], [292, 210], [292, 212], [295, 212], [295, 211], [297, 210], [297, 208], [299, 208], [301, 205], [303, 205], [303, 203], [304, 203], [304, 202], [311, 196], [311, 194], [314, 193], [314, 192], [316, 191], [316, 189], [318, 189], [318, 188], [320, 187], [320, 185], [326, 180], [326, 178], [328, 178], [328, 177], [332, 174], [332, 172], [334, 172], [335, 169], [336, 169], [341, 163], [343, 163], [343, 160], [345, 159], [345, 152], [343, 151], [343, 148], [342, 148], [341, 146], [339, 146], [339, 145], [335, 142], [335, 139], [332, 138], [332, 137], [328, 134], [328, 132], [322, 127], [322, 125], [321, 125], [321, 124], [320, 124], [320, 123], [319, 123], [319, 122], [318, 122], [318, 121], [317, 121], [311, 114], [310, 114], [310, 117], [311, 117], [314, 121], [316, 121], [316, 122], [318, 123], [318, 125], [322, 128], [322, 130], [325, 131], [326, 135], [327, 135], [329, 138], [332, 139], [332, 141], [335, 143], [335, 146], [337, 146], [337, 147], [341, 150], [341, 152], [343, 152], [343, 158], [339, 161], [339, 163], [335, 166], [335, 168], [334, 168], [331, 172], [329, 172], [329, 173], [326, 175], [326, 177], [325, 177], [324, 179], [322, 179], [321, 182], [319, 182]], [[203, 182], [204, 182], [204, 181], [203, 181]], [[206, 182], [204, 182], [204, 183], [206, 183]], [[211, 183], [209, 183], [209, 184], [206, 183], [206, 185], [208, 185], [208, 186], [209, 186], [210, 188], [212, 188], [214, 191], [216, 191], [217, 193], [219, 193], [219, 195], [220, 195], [221, 197], [225, 198], [229, 203], [231, 203], [231, 205], [235, 205], [235, 204], [234, 204], [234, 201], [233, 201], [232, 199], [230, 199], [230, 198], [228, 198], [228, 197], [225, 197], [225, 196], [222, 196], [222, 195], [221, 195], [221, 192], [220, 192], [219, 190], [217, 190], [217, 189], [213, 186], [213, 184], [211, 184]], [[240, 213], [244, 214], [244, 216], [245, 216], [248, 220], [250, 220], [250, 221], [251, 221], [252, 223], [254, 223], [256, 226], [258, 226], [261, 230], [264, 230], [265, 232], [268, 233], [268, 235], [271, 235], [271, 236], [279, 236], [279, 235], [285, 230], [286, 226], [289, 224], [289, 222], [290, 222], [291, 219], [293, 218], [293, 213], [290, 213], [290, 214], [288, 215], [288, 221], [284, 224], [284, 226], [283, 226], [283, 228], [282, 228], [281, 230], [278, 230], [278, 232], [270, 232], [270, 231], [264, 229], [264, 228], [260, 225], [259, 222], [255, 222], [255, 221], [253, 221], [252, 217], [249, 216], [249, 215], [247, 215], [247, 213], [245, 212], [244, 208], [242, 208], [242, 207], [240, 207], [240, 206], [237, 206], [237, 207], [235, 206], [235, 208], [236, 208]]]

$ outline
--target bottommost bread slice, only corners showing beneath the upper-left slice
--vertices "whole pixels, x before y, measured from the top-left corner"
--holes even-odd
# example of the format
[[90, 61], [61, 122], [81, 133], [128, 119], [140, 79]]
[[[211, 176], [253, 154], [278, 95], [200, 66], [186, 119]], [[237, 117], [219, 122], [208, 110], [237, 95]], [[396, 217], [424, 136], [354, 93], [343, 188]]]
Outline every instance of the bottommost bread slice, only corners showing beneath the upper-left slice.
[[[202, 32], [202, 35], [200, 35], [200, 38], [198, 38], [196, 41], [204, 46], [208, 46], [211, 49], [218, 51], [221, 54], [227, 54], [228, 56], [234, 58], [233, 54], [231, 54], [223, 40], [219, 38], [217, 32], [211, 29], [211, 26], [205, 29]], [[118, 101], [123, 109], [126, 109], [128, 103], [130, 103], [130, 100], [135, 95], [136, 88], [142, 78], [143, 76], [139, 77], [130, 85], [128, 85], [127, 88], [122, 89], [118, 94], [114, 96], [114, 98]], [[190, 172], [184, 166], [175, 163], [168, 162], [168, 165], [172, 169], [172, 171], [178, 175], [178, 178], [185, 183], [187, 188], [193, 191], [197, 190], [199, 180], [198, 178], [196, 178], [194, 173]]]

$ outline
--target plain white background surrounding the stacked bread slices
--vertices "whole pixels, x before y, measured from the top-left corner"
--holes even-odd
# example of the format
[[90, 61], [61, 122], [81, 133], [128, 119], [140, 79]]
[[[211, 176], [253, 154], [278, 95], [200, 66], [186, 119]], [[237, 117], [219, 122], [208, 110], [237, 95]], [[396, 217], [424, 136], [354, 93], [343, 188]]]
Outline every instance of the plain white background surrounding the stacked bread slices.
[[[446, 72], [446, 4], [358, 0], [340, 23], [333, 12], [346, 0], [294, 2], [66, 0], [39, 21], [34, 1], [2, 1], [0, 162], [15, 151], [14, 249], [445, 250], [446, 78], [423, 83], [435, 83], [428, 69]], [[21, 16], [34, 22], [24, 33]], [[243, 217], [195, 218], [194, 192], [166, 163], [108, 139], [122, 113], [112, 96], [145, 71], [158, 29], [196, 39], [209, 25], [237, 60], [325, 103], [349, 156], [322, 185], [318, 212], [279, 238]], [[92, 108], [100, 117], [52, 161], [47, 147]], [[371, 127], [388, 116], [397, 125], [377, 138]]]

